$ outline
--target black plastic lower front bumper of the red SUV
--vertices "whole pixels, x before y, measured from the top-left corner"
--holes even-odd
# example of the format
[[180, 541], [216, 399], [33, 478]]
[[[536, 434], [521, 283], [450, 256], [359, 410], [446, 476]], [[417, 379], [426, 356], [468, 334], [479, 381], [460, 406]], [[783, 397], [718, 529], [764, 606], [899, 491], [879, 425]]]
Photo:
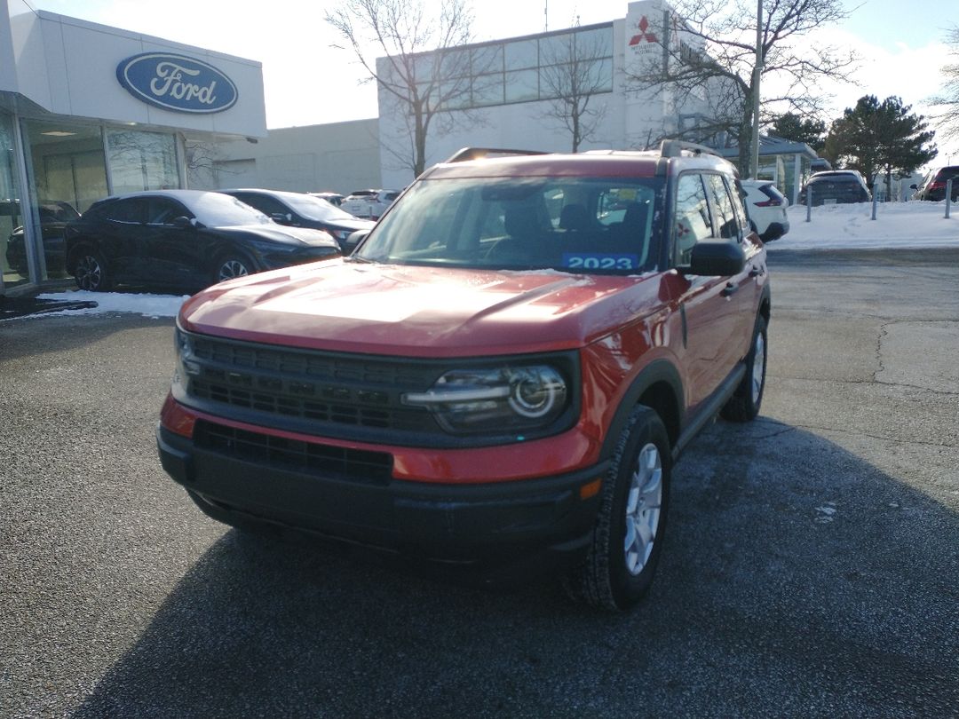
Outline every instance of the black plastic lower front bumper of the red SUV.
[[275, 524], [463, 564], [580, 556], [598, 509], [596, 480], [607, 469], [603, 463], [587, 471], [490, 483], [389, 476], [365, 481], [200, 447], [162, 426], [156, 439], [163, 468], [216, 520]]

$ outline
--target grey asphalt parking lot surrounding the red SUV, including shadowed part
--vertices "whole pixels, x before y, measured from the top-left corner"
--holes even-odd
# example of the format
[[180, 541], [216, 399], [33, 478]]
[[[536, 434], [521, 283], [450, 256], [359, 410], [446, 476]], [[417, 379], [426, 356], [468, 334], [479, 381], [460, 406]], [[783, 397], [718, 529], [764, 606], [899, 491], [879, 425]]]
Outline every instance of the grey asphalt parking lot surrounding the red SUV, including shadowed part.
[[959, 250], [770, 266], [760, 418], [682, 458], [629, 615], [208, 520], [173, 320], [0, 323], [0, 716], [959, 716]]

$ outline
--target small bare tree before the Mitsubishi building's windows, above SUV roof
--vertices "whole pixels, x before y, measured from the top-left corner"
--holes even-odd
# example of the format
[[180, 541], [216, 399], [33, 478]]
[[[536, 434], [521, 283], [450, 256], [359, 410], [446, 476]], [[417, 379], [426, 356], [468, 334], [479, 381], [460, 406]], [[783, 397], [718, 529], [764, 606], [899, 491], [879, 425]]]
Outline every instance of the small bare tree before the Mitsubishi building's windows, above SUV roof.
[[612, 28], [575, 29], [554, 35], [543, 53], [540, 92], [552, 98], [543, 114], [569, 130], [573, 152], [594, 139], [605, 117], [596, 95], [613, 89], [612, 35]]

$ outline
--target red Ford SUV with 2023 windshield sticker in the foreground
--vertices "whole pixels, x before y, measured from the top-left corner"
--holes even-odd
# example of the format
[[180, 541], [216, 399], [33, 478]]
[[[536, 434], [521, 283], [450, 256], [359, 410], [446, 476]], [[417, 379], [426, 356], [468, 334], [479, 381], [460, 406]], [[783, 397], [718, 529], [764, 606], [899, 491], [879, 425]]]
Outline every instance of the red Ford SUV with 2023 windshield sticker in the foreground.
[[624, 609], [673, 462], [760, 408], [769, 277], [740, 197], [728, 162], [676, 142], [457, 153], [352, 256], [184, 304], [163, 466], [222, 522], [561, 560], [574, 596]]

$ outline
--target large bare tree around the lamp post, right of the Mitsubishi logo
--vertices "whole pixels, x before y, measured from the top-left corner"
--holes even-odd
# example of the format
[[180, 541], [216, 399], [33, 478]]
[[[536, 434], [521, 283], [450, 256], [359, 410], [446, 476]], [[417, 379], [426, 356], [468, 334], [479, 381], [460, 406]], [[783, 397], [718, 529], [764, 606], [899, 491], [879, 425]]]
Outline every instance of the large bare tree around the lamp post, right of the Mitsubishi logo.
[[680, 0], [672, 22], [658, 40], [662, 58], [634, 80], [679, 99], [698, 97], [711, 120], [687, 132], [700, 139], [725, 131], [737, 138], [739, 171], [748, 172], [752, 147], [753, 100], [761, 91], [769, 114], [786, 110], [817, 116], [829, 99], [826, 79], [845, 81], [853, 69], [851, 51], [818, 46], [813, 31], [849, 12], [840, 0], [763, 0], [760, 87], [756, 86], [757, 0]]

